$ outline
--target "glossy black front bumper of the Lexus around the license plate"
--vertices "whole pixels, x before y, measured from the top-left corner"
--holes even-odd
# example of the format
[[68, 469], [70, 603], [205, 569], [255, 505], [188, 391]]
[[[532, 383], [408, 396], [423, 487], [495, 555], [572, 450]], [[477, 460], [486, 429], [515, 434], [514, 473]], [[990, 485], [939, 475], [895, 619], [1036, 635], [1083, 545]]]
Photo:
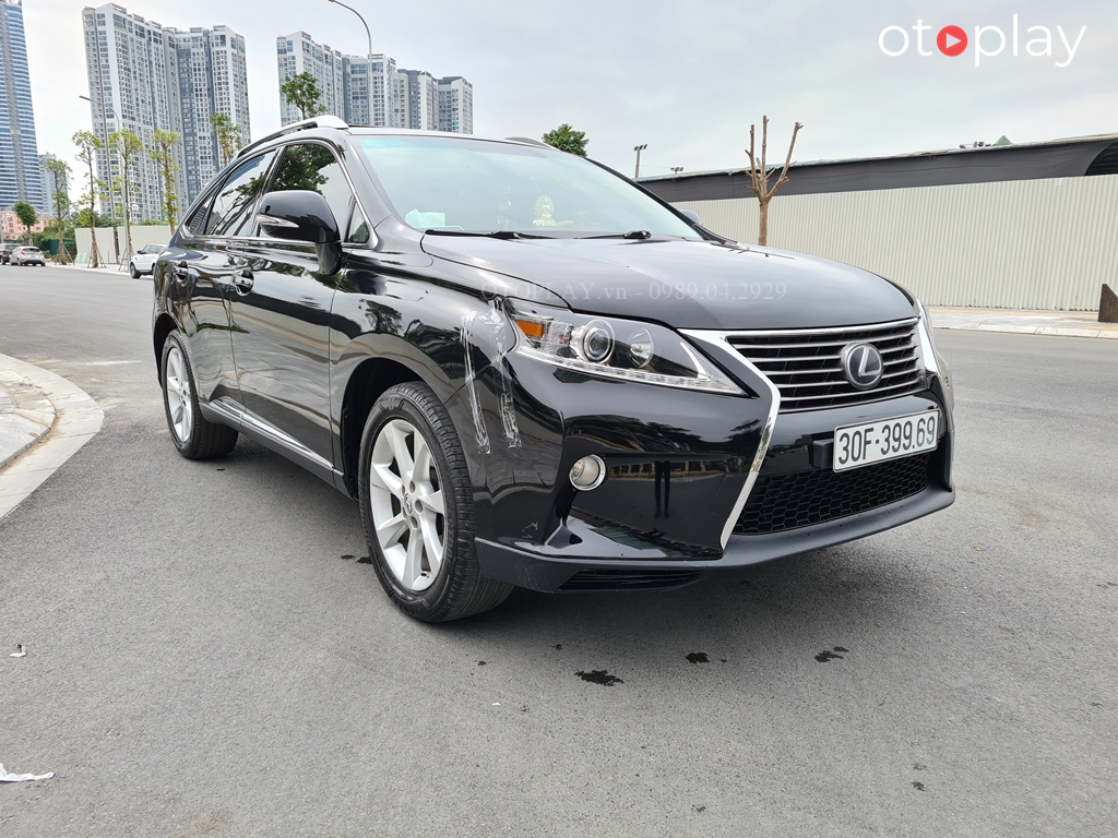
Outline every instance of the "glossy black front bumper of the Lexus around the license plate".
[[[954, 502], [951, 398], [937, 375], [907, 396], [779, 413], [779, 392], [755, 366], [729, 346], [704, 350], [745, 397], [606, 382], [513, 354], [479, 377], [485, 385], [474, 416], [494, 429], [500, 418], [505, 429], [471, 457], [486, 577], [550, 592], [676, 588], [860, 539]], [[491, 381], [498, 372], [502, 380]], [[506, 402], [496, 398], [502, 390]], [[931, 410], [942, 419], [939, 446], [919, 465], [903, 460], [898, 470], [908, 474], [893, 489], [880, 491], [888, 475], [871, 473], [877, 465], [842, 473], [856, 480], [836, 479], [827, 456], [835, 428]], [[589, 454], [605, 461], [607, 478], [576, 492], [567, 475]], [[831, 503], [835, 484], [863, 494]], [[800, 512], [771, 514], [789, 493]], [[823, 503], [804, 512], [809, 496]], [[750, 498], [767, 504], [750, 511]]]

